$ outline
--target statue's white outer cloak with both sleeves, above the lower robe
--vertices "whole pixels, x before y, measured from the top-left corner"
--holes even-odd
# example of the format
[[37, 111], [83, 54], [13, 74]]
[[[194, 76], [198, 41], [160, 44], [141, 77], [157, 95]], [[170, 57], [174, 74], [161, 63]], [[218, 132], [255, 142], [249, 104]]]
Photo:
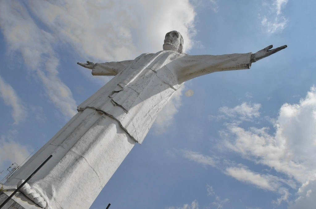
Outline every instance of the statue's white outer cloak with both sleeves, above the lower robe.
[[175, 51], [145, 53], [135, 60], [97, 64], [93, 75], [115, 75], [78, 106], [111, 116], [141, 144], [158, 113], [184, 81], [217, 71], [249, 69], [251, 53], [192, 56]]

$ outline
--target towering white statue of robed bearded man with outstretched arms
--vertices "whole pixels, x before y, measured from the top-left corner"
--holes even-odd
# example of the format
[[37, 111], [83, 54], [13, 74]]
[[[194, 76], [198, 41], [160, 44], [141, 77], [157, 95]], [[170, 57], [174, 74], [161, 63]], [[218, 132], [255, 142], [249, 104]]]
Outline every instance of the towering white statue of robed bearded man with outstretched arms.
[[92, 75], [114, 75], [78, 106], [78, 113], [7, 182], [26, 179], [49, 155], [53, 157], [29, 185], [46, 208], [89, 208], [135, 143], [141, 144], [158, 113], [185, 81], [218, 71], [250, 69], [251, 63], [287, 46], [255, 54], [182, 53], [183, 38], [166, 34], [163, 51], [134, 60], [78, 63]]

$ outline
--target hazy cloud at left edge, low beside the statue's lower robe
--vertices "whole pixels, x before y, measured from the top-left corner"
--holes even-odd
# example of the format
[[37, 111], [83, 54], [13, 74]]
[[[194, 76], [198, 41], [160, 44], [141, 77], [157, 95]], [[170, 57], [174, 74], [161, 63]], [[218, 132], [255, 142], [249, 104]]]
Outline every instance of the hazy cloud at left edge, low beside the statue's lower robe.
[[[7, 136], [0, 137], [0, 169], [6, 170], [12, 163], [20, 165], [29, 155], [29, 147], [14, 140], [17, 131], [9, 130]], [[2, 171], [0, 170], [0, 171]]]

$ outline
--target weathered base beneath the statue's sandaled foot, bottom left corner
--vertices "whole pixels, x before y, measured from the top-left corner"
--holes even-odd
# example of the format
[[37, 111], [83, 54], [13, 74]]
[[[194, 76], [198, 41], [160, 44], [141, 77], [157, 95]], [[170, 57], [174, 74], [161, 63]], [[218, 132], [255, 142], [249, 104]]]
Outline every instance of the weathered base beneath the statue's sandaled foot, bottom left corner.
[[[0, 205], [15, 191], [15, 189], [16, 189], [16, 186], [3, 185], [3, 190], [5, 192], [0, 192]], [[36, 205], [32, 200], [27, 198], [21, 192], [17, 192], [11, 198], [11, 200], [9, 200], [1, 209], [42, 209], [42, 208]]]

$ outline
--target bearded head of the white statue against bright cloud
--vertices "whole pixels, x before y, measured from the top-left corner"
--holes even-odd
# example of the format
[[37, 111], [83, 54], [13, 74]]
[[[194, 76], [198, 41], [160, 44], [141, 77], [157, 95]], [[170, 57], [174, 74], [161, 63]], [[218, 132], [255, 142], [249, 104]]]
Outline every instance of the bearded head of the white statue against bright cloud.
[[182, 53], [183, 38], [181, 34], [178, 31], [170, 31], [167, 33], [162, 48], [163, 50], [171, 50]]

